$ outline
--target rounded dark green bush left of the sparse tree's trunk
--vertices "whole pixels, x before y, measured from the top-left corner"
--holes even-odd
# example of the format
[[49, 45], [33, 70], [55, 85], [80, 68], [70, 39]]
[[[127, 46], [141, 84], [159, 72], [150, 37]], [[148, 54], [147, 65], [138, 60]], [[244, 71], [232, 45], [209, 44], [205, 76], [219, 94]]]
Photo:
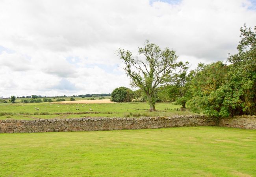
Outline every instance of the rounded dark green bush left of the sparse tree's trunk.
[[111, 101], [113, 102], [130, 102], [133, 100], [133, 91], [126, 87], [118, 87], [111, 93]]

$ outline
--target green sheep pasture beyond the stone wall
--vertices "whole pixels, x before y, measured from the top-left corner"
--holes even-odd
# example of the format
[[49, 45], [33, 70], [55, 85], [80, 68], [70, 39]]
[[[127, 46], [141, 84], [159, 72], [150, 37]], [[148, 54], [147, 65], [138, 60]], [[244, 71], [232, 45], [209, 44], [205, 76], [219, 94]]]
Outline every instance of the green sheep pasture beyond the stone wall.
[[[76, 107], [78, 106], [78, 107]], [[84, 106], [84, 107], [82, 107]], [[81, 117], [140, 117], [140, 116], [173, 116], [193, 114], [174, 109], [179, 105], [172, 103], [156, 103], [157, 112], [148, 112], [149, 105], [142, 102], [132, 103], [98, 103], [98, 104], [56, 104], [56, 103], [2, 103], [0, 104], [0, 120], [39, 118], [81, 118]], [[35, 108], [39, 108], [36, 111]], [[78, 108], [79, 110], [76, 110]], [[91, 108], [93, 113], [90, 113]], [[84, 113], [87, 112], [87, 113]], [[96, 112], [96, 113], [95, 113]], [[58, 114], [59, 113], [59, 114]]]

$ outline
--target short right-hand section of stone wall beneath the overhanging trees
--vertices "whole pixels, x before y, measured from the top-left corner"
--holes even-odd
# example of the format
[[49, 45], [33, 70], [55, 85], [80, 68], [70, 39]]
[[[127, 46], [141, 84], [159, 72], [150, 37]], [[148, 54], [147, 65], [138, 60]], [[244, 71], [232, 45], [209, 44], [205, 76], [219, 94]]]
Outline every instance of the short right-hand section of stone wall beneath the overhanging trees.
[[242, 129], [256, 129], [256, 116], [234, 116], [232, 118], [222, 118], [219, 121], [221, 127], [234, 127]]

